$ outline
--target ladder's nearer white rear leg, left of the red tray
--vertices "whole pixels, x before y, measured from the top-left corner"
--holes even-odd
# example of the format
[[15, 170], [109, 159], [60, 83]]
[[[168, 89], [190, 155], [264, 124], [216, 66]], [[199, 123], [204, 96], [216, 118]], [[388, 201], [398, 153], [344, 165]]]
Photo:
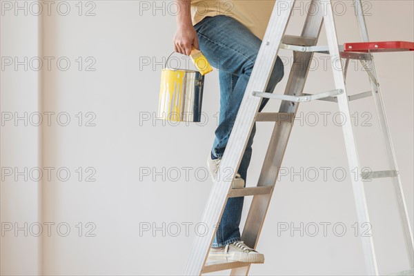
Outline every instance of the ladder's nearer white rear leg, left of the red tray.
[[[331, 64], [333, 68], [333, 77], [335, 81], [335, 88], [344, 90], [344, 93], [337, 96], [339, 111], [345, 115], [345, 124], [342, 126], [344, 132], [344, 141], [346, 147], [346, 155], [348, 156], [348, 166], [350, 171], [355, 168], [359, 171], [359, 158], [357, 152], [357, 144], [351, 123], [351, 112], [349, 109], [348, 96], [346, 94], [344, 75], [342, 72], [342, 62], [340, 59], [337, 34], [335, 29], [335, 21], [333, 19], [333, 9], [331, 0], [321, 0], [322, 9], [324, 10], [324, 21], [326, 29], [326, 37], [328, 38], [329, 52], [331, 53]], [[336, 70], [335, 70], [336, 68]], [[338, 70], [340, 68], [341, 70]], [[364, 190], [364, 183], [361, 177], [351, 177], [353, 193], [355, 197], [355, 204], [357, 208], [357, 217], [359, 225], [362, 223], [369, 223], [368, 208], [366, 206], [366, 197]], [[378, 275], [377, 260], [375, 257], [375, 249], [373, 244], [373, 237], [362, 237], [362, 248], [364, 249], [364, 257], [366, 263], [367, 273], [369, 275]]]

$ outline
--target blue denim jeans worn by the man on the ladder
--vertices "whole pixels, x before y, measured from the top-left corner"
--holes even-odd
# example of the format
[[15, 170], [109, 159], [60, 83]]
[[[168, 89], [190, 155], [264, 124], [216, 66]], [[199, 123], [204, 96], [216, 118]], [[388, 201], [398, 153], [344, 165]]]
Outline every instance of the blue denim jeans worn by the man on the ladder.
[[[262, 41], [242, 23], [226, 15], [206, 17], [195, 25], [195, 30], [201, 52], [211, 66], [219, 70], [220, 115], [212, 153], [215, 157], [222, 157]], [[282, 60], [277, 57], [266, 92], [273, 92], [283, 76], [284, 66]], [[259, 111], [262, 111], [267, 101], [268, 99], [263, 99]], [[255, 132], [256, 125], [253, 126], [238, 170], [245, 180]], [[228, 199], [217, 226], [213, 247], [226, 246], [240, 240], [239, 224], [243, 201], [244, 197]]]

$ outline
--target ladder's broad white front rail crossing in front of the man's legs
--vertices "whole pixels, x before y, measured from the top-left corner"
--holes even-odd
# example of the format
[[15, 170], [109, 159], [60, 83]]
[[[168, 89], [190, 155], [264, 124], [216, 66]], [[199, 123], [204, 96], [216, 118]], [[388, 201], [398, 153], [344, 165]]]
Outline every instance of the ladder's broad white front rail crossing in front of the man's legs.
[[[248, 137], [255, 124], [255, 117], [259, 110], [262, 98], [252, 95], [253, 91], [264, 91], [266, 89], [271, 70], [276, 61], [277, 51], [279, 50], [280, 41], [286, 30], [293, 2], [295, 0], [285, 0], [288, 8], [278, 10], [277, 5], [273, 9], [268, 29], [264, 36], [264, 43], [260, 47], [256, 63], [260, 66], [254, 66], [252, 75], [248, 81], [246, 92], [244, 94], [239, 112], [233, 126], [233, 130], [228, 140], [228, 145], [224, 152], [223, 159], [219, 167], [219, 175], [228, 175], [228, 179], [218, 179], [213, 184], [210, 195], [201, 221], [207, 227], [207, 233], [203, 237], [196, 236], [190, 251], [190, 256], [184, 269], [184, 275], [201, 275], [202, 268], [206, 264], [208, 251], [213, 243], [216, 232], [216, 225], [223, 214], [227, 201], [227, 195], [230, 190], [231, 180], [234, 179], [242, 159], [243, 152], [246, 148]], [[231, 175], [224, 174], [226, 168], [235, 168]]]

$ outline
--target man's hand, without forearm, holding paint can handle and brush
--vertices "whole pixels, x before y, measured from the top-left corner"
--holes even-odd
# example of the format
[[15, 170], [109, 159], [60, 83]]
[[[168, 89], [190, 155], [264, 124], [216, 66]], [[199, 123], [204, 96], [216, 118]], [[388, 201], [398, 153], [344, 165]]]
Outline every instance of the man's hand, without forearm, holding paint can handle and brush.
[[197, 32], [195, 32], [195, 28], [192, 24], [189, 26], [179, 26], [174, 36], [175, 52], [189, 56], [192, 46], [194, 46], [197, 50], [199, 49]]

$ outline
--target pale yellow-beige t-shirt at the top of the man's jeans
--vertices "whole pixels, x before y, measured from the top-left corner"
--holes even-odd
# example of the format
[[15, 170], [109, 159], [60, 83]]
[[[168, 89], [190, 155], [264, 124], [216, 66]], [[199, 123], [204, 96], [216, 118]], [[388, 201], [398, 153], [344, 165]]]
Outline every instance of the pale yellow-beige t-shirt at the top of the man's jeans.
[[275, 0], [191, 0], [193, 25], [204, 17], [228, 15], [263, 39]]

